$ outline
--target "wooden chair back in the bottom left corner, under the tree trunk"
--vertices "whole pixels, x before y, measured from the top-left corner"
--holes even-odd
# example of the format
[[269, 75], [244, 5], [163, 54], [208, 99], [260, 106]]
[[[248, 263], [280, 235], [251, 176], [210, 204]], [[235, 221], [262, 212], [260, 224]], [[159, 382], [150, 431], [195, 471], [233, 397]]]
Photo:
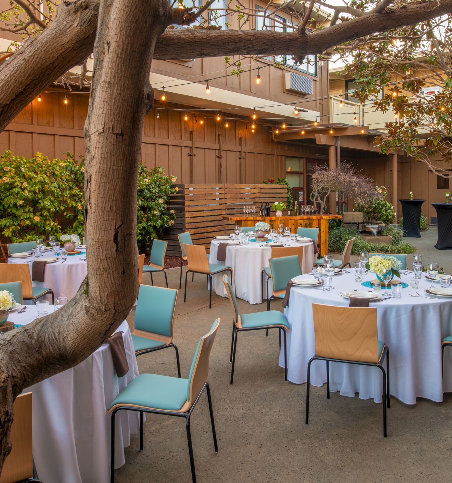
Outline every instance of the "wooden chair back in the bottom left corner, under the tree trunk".
[[17, 396], [11, 426], [13, 448], [6, 457], [0, 483], [14, 483], [33, 477], [31, 444], [31, 392]]

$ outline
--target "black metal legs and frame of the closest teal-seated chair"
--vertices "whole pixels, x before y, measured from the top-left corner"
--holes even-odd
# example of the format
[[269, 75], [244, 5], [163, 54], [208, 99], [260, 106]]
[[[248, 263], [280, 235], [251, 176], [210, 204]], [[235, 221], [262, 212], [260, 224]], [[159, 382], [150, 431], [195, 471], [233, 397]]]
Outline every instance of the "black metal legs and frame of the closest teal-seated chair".
[[115, 482], [115, 415], [118, 411], [123, 409], [127, 411], [135, 411], [140, 413], [140, 451], [143, 451], [143, 413], [150, 412], [154, 414], [166, 414], [168, 416], [179, 416], [185, 417], [185, 426], [186, 426], [186, 433], [187, 433], [187, 442], [188, 442], [188, 454], [190, 455], [190, 467], [191, 467], [191, 478], [192, 482], [196, 483], [196, 472], [195, 472], [195, 458], [193, 456], [193, 445], [191, 442], [191, 431], [190, 431], [190, 416], [193, 410], [195, 409], [196, 404], [199, 401], [202, 393], [206, 389], [207, 392], [207, 399], [209, 401], [209, 412], [210, 412], [210, 421], [212, 425], [212, 435], [213, 435], [213, 445], [215, 448], [215, 453], [218, 453], [218, 444], [216, 440], [216, 432], [215, 432], [215, 421], [213, 419], [213, 408], [212, 408], [212, 398], [210, 394], [210, 387], [209, 383], [206, 382], [203, 386], [201, 391], [199, 392], [198, 397], [195, 399], [195, 402], [192, 404], [190, 409], [187, 412], [173, 412], [173, 411], [164, 411], [158, 409], [143, 409], [137, 408], [135, 406], [124, 405], [119, 408], [116, 408], [111, 413], [111, 432], [110, 432], [110, 482]]

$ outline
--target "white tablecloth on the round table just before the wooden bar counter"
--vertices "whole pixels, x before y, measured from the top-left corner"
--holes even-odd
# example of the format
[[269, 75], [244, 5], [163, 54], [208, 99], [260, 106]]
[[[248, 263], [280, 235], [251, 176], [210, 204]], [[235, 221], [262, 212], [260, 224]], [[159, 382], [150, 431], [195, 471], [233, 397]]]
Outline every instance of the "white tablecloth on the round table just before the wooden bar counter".
[[[307, 273], [314, 266], [314, 246], [312, 243], [295, 243], [283, 237], [285, 246], [302, 246], [303, 262], [302, 273]], [[262, 275], [261, 272], [268, 267], [268, 259], [271, 257], [271, 246], [268, 243], [256, 243], [250, 241], [248, 245], [228, 246], [226, 249], [226, 261], [218, 262], [216, 254], [221, 240], [213, 240], [210, 244], [210, 263], [227, 265], [234, 272], [234, 287], [236, 296], [247, 300], [250, 304], [262, 303]], [[227, 274], [227, 272], [226, 272]], [[227, 297], [223, 284], [223, 275], [213, 276], [213, 290], [220, 297]], [[271, 284], [268, 287], [271, 293]], [[266, 277], [264, 277], [264, 297], [266, 296]]]

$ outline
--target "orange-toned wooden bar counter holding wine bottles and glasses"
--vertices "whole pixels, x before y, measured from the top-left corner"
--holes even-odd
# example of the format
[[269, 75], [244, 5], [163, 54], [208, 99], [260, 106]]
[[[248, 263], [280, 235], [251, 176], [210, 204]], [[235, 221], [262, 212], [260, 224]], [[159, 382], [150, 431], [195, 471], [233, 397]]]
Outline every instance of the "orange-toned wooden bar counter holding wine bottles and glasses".
[[329, 220], [341, 219], [342, 216], [337, 214], [321, 214], [321, 215], [302, 215], [302, 216], [223, 216], [223, 219], [235, 222], [241, 227], [253, 227], [258, 221], [265, 221], [270, 228], [278, 229], [279, 223], [284, 223], [285, 227], [290, 227], [293, 233], [297, 232], [300, 227], [303, 228], [319, 228], [320, 236], [320, 255], [328, 254], [328, 223]]

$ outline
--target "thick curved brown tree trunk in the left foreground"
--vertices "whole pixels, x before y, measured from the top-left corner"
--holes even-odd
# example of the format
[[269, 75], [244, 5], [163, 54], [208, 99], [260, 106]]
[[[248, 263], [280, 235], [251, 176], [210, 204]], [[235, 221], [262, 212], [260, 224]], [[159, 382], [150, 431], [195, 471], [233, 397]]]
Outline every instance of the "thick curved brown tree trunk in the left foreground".
[[[0, 471], [11, 450], [20, 392], [79, 364], [130, 312], [138, 291], [136, 192], [154, 45], [171, 9], [164, 0], [103, 0], [85, 125], [88, 277], [58, 312], [0, 338]], [[127, 59], [127, 61], [125, 61]], [[27, 357], [24, 355], [27, 354]]]

